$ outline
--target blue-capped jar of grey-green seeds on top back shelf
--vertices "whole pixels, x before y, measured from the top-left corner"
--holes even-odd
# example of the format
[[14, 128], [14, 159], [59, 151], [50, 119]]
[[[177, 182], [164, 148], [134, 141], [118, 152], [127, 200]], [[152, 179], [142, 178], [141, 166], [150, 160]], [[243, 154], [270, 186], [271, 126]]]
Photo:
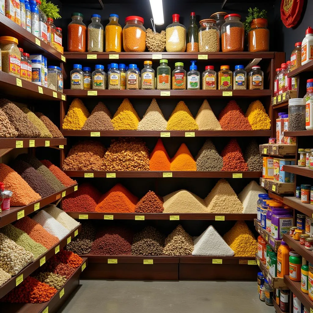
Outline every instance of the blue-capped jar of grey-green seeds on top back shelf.
[[99, 14], [91, 15], [91, 23], [88, 26], [88, 52], [103, 52], [104, 30], [100, 22]]

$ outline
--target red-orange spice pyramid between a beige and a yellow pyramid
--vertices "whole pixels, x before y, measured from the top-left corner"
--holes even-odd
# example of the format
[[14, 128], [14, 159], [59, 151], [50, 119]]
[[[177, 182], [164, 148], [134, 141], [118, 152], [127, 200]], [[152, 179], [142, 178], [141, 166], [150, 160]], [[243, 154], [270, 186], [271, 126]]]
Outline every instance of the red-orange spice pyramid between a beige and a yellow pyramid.
[[221, 111], [218, 121], [223, 131], [251, 131], [251, 125], [235, 100], [231, 100]]

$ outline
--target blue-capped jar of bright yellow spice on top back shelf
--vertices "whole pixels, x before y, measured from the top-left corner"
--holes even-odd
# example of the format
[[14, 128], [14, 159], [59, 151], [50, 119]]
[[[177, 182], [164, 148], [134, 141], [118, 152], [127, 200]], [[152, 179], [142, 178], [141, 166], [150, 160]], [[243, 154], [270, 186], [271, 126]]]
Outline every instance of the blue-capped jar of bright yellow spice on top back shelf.
[[122, 40], [122, 27], [118, 23], [118, 15], [110, 14], [109, 23], [105, 26], [105, 52], [121, 52]]

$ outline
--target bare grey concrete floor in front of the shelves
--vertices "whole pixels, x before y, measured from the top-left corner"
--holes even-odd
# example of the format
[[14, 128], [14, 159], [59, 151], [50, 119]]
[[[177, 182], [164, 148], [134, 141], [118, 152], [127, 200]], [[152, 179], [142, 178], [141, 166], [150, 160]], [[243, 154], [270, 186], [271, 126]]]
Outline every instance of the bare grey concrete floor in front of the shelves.
[[274, 313], [257, 282], [80, 280], [58, 313]]

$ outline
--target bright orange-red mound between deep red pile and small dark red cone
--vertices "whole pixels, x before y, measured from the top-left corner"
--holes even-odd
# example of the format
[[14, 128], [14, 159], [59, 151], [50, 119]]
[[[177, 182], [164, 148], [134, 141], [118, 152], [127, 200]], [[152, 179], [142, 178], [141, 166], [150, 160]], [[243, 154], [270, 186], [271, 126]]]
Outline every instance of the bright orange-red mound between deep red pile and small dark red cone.
[[121, 184], [116, 184], [99, 199], [95, 211], [109, 213], [135, 212], [138, 198]]

